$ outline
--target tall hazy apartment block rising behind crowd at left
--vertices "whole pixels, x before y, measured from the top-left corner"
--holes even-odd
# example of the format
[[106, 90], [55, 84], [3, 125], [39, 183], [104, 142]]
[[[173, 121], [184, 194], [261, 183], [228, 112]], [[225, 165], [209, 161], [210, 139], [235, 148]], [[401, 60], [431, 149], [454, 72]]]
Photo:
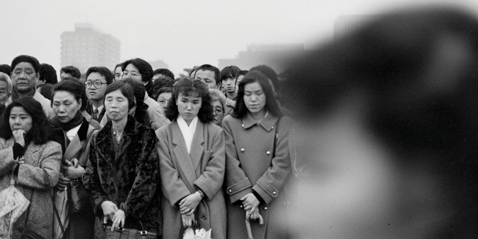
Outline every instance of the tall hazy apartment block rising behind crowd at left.
[[61, 66], [74, 65], [85, 74], [91, 66], [112, 69], [120, 63], [120, 40], [90, 23], [75, 23], [75, 32], [61, 34]]

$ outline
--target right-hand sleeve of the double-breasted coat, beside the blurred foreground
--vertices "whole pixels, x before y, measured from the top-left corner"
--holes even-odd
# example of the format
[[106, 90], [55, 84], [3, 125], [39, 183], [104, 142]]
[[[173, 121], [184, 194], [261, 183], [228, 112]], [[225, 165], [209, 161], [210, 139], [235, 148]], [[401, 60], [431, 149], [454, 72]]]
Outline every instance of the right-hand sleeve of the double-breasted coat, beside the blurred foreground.
[[[289, 154], [289, 131], [291, 130], [291, 125], [292, 120], [285, 119], [285, 117], [281, 119], [281, 127], [278, 128], [280, 137], [277, 140], [275, 157], [271, 163], [272, 166], [262, 174], [252, 187], [266, 204], [269, 204], [273, 198], [279, 196], [280, 190], [282, 190], [283, 185], [291, 173], [291, 158]], [[281, 131], [285, 131], [284, 134], [282, 134]]]

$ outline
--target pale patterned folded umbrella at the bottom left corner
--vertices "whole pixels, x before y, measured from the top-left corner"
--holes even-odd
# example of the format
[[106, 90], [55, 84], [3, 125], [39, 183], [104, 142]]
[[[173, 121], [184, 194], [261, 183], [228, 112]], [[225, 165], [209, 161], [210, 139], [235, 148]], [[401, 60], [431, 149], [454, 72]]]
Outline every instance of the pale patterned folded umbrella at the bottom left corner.
[[[15, 166], [17, 166], [16, 164]], [[30, 201], [15, 187], [11, 175], [10, 186], [0, 192], [0, 239], [10, 239], [13, 223], [27, 210]]]

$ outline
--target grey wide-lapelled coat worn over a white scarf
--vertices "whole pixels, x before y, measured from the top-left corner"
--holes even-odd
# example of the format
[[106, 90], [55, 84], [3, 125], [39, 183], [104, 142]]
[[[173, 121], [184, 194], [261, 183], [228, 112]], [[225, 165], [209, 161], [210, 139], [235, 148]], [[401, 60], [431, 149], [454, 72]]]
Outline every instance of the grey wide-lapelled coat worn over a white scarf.
[[176, 120], [156, 130], [163, 198], [163, 238], [178, 238], [183, 223], [179, 202], [198, 189], [204, 197], [196, 207], [200, 228], [212, 228], [213, 239], [226, 238], [224, 133], [217, 125], [197, 121], [190, 153]]

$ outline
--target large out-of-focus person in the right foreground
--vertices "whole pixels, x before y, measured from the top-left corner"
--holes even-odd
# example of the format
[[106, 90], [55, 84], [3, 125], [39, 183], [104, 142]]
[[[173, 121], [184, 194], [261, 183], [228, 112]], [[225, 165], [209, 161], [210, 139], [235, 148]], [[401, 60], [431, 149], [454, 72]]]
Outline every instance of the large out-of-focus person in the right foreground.
[[477, 238], [473, 14], [380, 15], [287, 67], [291, 238]]

